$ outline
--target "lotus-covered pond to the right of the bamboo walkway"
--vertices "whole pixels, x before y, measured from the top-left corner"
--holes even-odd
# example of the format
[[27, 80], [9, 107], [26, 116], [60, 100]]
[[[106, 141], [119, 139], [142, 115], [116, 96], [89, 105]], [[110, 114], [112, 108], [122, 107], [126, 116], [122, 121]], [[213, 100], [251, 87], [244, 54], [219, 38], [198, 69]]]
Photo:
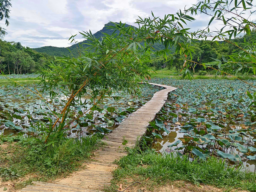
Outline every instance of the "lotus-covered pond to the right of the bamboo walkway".
[[[154, 138], [159, 153], [177, 152], [206, 160], [210, 156], [226, 159], [255, 171], [255, 106], [246, 91], [253, 88], [238, 80], [151, 80], [178, 89], [150, 122], [145, 140]], [[256, 85], [256, 81], [250, 81]]]

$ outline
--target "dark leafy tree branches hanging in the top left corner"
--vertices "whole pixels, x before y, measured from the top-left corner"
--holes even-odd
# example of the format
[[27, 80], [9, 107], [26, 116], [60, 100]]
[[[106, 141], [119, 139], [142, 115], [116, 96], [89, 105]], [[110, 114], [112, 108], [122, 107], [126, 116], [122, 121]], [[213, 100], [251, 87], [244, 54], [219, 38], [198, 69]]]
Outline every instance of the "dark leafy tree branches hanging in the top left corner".
[[[9, 8], [12, 6], [11, 0], [0, 0], [0, 21], [5, 19], [5, 25], [9, 25], [8, 19], [10, 18]], [[3, 27], [0, 26], [0, 38], [2, 39], [6, 35], [6, 31]]]

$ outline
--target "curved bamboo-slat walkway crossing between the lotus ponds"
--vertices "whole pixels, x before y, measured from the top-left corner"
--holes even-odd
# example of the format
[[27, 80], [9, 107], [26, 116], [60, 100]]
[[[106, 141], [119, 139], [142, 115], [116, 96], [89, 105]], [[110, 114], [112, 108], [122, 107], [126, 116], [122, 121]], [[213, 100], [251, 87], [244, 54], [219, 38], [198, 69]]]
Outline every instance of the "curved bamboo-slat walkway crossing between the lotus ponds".
[[154, 120], [156, 113], [160, 111], [167, 100], [168, 93], [175, 87], [153, 84], [165, 89], [158, 91], [145, 105], [133, 112], [111, 133], [103, 138], [104, 146], [93, 152], [92, 158], [95, 162], [86, 164], [86, 169], [75, 172], [72, 176], [56, 181], [55, 183], [33, 182], [23, 192], [96, 192], [104, 191], [106, 185], [110, 185], [112, 179], [111, 171], [117, 167], [112, 162], [126, 155], [123, 140], [127, 140], [126, 146], [134, 147], [138, 137], [146, 131], [148, 122]]

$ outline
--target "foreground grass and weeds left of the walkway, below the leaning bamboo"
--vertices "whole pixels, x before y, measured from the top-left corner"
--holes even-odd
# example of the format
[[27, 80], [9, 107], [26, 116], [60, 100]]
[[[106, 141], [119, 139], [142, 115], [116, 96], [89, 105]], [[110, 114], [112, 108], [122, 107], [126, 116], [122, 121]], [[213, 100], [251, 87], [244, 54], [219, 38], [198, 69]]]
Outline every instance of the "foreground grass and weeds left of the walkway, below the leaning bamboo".
[[[19, 180], [37, 175], [32, 180], [48, 181], [76, 171], [95, 148], [97, 137], [79, 139], [63, 138], [54, 146], [45, 146], [43, 141], [22, 136], [0, 137], [0, 177]], [[19, 187], [24, 187], [20, 185]], [[19, 188], [18, 187], [18, 188]]]

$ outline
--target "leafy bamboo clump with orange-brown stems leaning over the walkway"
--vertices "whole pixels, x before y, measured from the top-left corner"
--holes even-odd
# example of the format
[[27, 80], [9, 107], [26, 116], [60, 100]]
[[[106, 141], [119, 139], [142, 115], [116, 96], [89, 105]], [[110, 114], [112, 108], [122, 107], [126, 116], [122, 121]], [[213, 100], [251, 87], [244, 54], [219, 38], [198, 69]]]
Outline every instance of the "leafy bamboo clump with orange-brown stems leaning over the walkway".
[[117, 34], [113, 30], [113, 34], [104, 34], [97, 39], [91, 31], [81, 33], [90, 42], [88, 50], [81, 47], [82, 52], [78, 49], [79, 57], [59, 58], [56, 63], [50, 64], [41, 72], [44, 91], [48, 91], [54, 98], [56, 95], [54, 90], [61, 88], [68, 98], [63, 108], [56, 110], [58, 118], [50, 126], [49, 135], [54, 130], [61, 135], [62, 130], [69, 127], [69, 124], [80, 122], [79, 118], [85, 113], [72, 121], [66, 121], [66, 119], [70, 106], [75, 105], [76, 102], [80, 103], [83, 95], [90, 94], [96, 99], [97, 102], [93, 105], [96, 107], [106, 94], [110, 96], [116, 91], [124, 91], [132, 95], [139, 94], [139, 83], [143, 79], [148, 79], [151, 74], [145, 64], [150, 55], [141, 49], [142, 46], [132, 35], [135, 28], [125, 28], [121, 23], [118, 26], [125, 29], [127, 34], [121, 32]]

